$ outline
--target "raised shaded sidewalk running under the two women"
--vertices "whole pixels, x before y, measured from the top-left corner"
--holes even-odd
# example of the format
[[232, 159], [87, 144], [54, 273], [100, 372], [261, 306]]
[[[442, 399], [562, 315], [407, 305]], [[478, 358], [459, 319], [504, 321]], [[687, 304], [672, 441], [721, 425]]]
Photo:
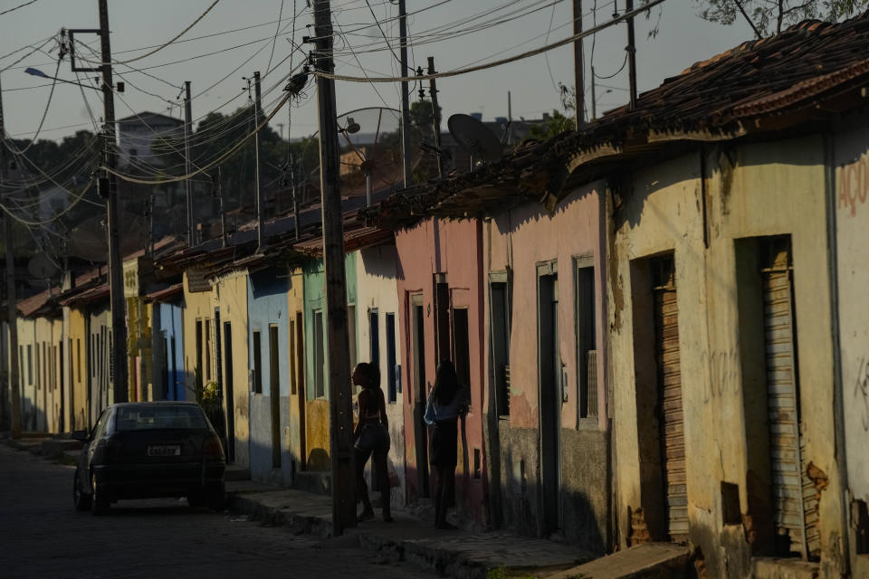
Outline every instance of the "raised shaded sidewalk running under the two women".
[[[264, 523], [290, 527], [297, 533], [332, 535], [331, 498], [265, 484], [227, 481], [229, 507]], [[378, 509], [375, 509], [378, 511]], [[379, 512], [377, 512], [379, 516]], [[405, 561], [450, 577], [546, 576], [585, 563], [595, 555], [562, 545], [508, 533], [442, 531], [406, 510], [393, 509], [395, 522], [378, 518], [360, 523], [345, 535], [390, 562]]]

